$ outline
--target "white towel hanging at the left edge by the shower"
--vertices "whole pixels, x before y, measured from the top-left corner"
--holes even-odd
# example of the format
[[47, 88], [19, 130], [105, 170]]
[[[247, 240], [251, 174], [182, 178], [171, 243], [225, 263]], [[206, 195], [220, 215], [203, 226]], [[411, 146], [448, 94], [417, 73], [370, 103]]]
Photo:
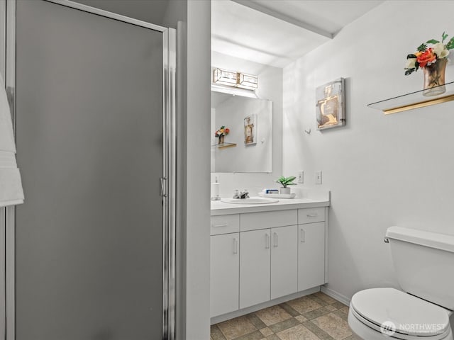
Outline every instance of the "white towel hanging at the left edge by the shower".
[[16, 145], [8, 98], [0, 75], [0, 207], [23, 203], [21, 174], [16, 164]]

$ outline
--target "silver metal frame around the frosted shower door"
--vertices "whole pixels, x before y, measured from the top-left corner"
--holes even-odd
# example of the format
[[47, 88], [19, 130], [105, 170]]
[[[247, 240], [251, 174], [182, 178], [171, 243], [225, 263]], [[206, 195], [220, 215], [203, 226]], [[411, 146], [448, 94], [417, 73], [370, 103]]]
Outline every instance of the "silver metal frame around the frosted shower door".
[[[121, 14], [79, 4], [70, 0], [41, 0], [66, 6], [75, 10], [111, 18], [131, 25], [148, 28], [162, 33], [162, 104], [163, 104], [163, 162], [162, 162], [162, 340], [175, 339], [175, 254], [176, 254], [176, 157], [177, 157], [177, 117], [176, 117], [176, 67], [177, 31], [153, 23], [147, 23]], [[6, 11], [6, 70], [5, 85], [9, 95], [13, 128], [15, 128], [16, 96], [16, 0], [6, 0], [0, 11]], [[3, 7], [4, 6], [4, 7]], [[6, 10], [4, 9], [6, 7]], [[26, 200], [25, 203], [26, 204]], [[0, 225], [5, 227], [5, 327], [0, 339], [16, 339], [15, 321], [15, 208], [7, 207], [0, 212]], [[1, 313], [0, 313], [1, 315]], [[1, 329], [0, 329], [1, 331]], [[154, 340], [154, 339], [150, 339]]]

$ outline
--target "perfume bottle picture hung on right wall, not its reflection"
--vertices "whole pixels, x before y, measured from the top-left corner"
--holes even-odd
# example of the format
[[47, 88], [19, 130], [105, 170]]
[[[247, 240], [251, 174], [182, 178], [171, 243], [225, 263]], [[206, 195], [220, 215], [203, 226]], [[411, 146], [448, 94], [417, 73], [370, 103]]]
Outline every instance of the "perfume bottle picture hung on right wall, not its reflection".
[[344, 79], [339, 78], [316, 88], [317, 128], [325, 130], [345, 125]]

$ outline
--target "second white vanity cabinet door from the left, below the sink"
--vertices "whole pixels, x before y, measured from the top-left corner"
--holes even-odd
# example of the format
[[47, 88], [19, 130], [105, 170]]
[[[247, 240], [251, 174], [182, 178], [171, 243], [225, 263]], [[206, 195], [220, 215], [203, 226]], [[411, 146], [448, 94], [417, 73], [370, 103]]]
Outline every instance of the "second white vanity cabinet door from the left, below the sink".
[[270, 229], [240, 232], [240, 308], [270, 300]]

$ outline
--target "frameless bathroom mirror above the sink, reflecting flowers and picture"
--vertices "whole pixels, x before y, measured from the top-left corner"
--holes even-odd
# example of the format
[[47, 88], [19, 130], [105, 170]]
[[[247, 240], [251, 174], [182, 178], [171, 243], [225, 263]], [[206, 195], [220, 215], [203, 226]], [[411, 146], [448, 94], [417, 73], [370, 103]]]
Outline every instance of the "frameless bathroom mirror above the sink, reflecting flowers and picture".
[[211, 91], [211, 130], [211, 172], [272, 171], [272, 101]]

